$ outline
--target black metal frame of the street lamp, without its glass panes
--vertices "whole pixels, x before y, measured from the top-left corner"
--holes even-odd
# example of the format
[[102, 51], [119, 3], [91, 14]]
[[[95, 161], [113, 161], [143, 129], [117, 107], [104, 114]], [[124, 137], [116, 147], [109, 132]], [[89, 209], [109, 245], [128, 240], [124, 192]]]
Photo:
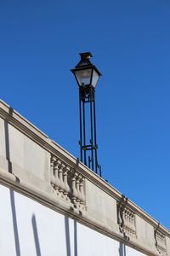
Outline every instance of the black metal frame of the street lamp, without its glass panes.
[[[95, 173], [99, 174], [101, 177], [101, 166], [98, 163], [97, 156], [97, 137], [96, 137], [96, 116], [95, 116], [95, 88], [92, 85], [93, 72], [94, 70], [99, 73], [99, 70], [89, 61], [89, 56], [92, 56], [90, 53], [82, 53], [81, 61], [77, 64], [75, 69], [71, 69], [71, 72], [75, 74], [76, 71], [86, 70], [92, 68], [90, 84], [77, 84], [79, 85], [79, 113], [80, 113], [80, 160]], [[86, 59], [86, 57], [88, 58]], [[90, 116], [90, 139], [89, 143], [87, 140], [86, 134], [86, 113], [88, 112], [89, 106], [89, 116]]]

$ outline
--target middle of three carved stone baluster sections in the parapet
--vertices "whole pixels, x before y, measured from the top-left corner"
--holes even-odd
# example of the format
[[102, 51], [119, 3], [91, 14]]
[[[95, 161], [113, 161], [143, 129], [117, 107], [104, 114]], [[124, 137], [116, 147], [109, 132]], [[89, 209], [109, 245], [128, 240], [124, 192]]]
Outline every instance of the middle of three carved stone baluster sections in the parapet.
[[136, 238], [135, 214], [127, 207], [127, 199], [122, 196], [122, 201], [117, 202], [117, 222], [123, 236], [129, 240]]

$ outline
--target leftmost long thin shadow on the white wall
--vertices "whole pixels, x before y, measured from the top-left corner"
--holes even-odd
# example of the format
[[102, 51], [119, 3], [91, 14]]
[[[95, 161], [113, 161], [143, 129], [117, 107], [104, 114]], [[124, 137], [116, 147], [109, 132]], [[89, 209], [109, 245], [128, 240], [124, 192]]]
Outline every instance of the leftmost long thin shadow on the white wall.
[[14, 190], [12, 189], [10, 189], [10, 202], [11, 202], [11, 210], [12, 210], [12, 216], [13, 216], [15, 250], [16, 250], [16, 255], [20, 256], [20, 240], [19, 240], [19, 232], [17, 227], [16, 210], [15, 210], [15, 203], [14, 203]]

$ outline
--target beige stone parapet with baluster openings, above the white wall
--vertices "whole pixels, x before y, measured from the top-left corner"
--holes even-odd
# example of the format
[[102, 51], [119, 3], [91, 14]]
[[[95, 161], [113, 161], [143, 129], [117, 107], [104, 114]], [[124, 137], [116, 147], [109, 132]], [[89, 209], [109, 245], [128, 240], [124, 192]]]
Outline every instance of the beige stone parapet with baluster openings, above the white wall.
[[0, 183], [147, 255], [170, 255], [170, 231], [0, 102]]

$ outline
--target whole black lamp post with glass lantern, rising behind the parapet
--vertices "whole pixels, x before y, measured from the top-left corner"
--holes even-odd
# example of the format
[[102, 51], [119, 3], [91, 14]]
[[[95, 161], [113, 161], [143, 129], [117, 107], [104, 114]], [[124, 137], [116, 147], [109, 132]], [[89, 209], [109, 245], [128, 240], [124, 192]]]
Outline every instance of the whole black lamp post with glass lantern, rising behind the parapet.
[[[79, 87], [79, 111], [80, 111], [80, 160], [101, 177], [101, 166], [97, 157], [96, 119], [95, 119], [95, 88], [101, 73], [95, 67], [90, 58], [90, 52], [80, 54], [81, 60], [77, 66], [71, 69]], [[90, 124], [88, 131], [87, 121]], [[89, 134], [89, 135], [88, 135]]]

